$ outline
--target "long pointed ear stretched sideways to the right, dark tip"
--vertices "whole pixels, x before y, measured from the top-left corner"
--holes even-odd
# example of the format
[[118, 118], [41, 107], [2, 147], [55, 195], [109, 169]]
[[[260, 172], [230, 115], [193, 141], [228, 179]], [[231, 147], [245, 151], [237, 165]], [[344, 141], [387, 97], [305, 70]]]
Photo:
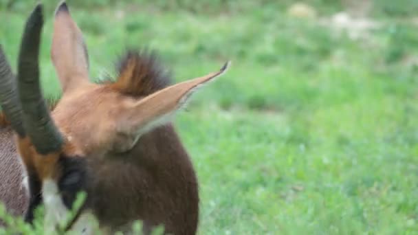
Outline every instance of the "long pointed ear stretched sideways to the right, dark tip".
[[139, 137], [159, 125], [170, 122], [175, 112], [185, 107], [192, 93], [224, 74], [229, 65], [228, 61], [217, 72], [166, 87], [131, 104], [131, 107], [127, 107], [118, 118], [118, 131]]

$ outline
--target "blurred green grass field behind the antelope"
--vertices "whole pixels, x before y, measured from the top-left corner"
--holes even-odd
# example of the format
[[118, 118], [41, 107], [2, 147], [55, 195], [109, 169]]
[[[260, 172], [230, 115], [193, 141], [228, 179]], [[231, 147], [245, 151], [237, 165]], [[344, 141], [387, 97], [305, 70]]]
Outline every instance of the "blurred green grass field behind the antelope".
[[[92, 78], [111, 73], [126, 46], [159, 49], [176, 81], [232, 60], [175, 120], [199, 175], [199, 234], [418, 234], [415, 1], [380, 1], [371, 16], [382, 27], [359, 40], [287, 16], [290, 1], [77, 2], [69, 5]], [[307, 2], [321, 17], [343, 7]], [[0, 11], [11, 61], [27, 4]], [[49, 58], [54, 4], [41, 59], [48, 96], [58, 88]]]

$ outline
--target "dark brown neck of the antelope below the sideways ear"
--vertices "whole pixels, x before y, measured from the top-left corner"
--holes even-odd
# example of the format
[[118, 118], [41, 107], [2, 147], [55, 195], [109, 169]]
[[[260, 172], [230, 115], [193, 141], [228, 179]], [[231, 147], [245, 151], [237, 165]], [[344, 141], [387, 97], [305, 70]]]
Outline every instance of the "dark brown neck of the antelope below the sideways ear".
[[116, 229], [136, 218], [144, 220], [146, 230], [163, 223], [166, 232], [195, 234], [197, 178], [173, 126], [159, 127], [142, 136], [129, 152], [107, 158], [91, 159], [95, 162], [89, 164], [91, 172], [108, 176], [96, 177], [96, 186], [89, 191], [107, 195], [91, 200], [103, 225]]

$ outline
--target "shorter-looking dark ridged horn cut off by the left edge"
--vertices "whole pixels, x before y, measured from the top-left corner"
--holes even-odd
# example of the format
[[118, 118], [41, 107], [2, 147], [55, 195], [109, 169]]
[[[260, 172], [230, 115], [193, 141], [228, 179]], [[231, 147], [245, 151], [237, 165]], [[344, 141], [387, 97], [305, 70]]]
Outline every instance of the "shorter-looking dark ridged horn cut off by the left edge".
[[5, 116], [19, 137], [25, 137], [22, 107], [17, 96], [16, 80], [0, 45], [0, 104]]

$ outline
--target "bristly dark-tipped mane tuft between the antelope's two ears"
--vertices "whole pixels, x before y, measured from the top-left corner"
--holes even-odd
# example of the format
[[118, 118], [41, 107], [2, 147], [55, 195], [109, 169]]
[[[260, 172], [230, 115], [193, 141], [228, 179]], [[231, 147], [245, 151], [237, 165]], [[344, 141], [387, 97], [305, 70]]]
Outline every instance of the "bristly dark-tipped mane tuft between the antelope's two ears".
[[170, 85], [170, 73], [153, 51], [128, 50], [116, 63], [118, 78], [109, 87], [130, 96], [148, 96]]

